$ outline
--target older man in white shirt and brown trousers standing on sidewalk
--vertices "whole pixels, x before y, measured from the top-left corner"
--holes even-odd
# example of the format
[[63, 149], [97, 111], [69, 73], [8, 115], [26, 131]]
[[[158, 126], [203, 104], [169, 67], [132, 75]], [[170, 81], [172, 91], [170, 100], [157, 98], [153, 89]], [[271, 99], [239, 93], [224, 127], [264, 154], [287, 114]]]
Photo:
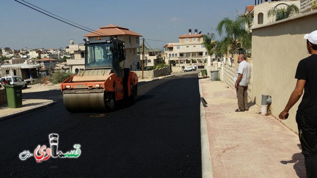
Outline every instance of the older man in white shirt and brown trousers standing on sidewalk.
[[248, 85], [251, 77], [251, 64], [246, 61], [246, 56], [244, 54], [240, 54], [238, 56], [238, 69], [237, 74], [234, 77], [235, 85], [234, 87], [237, 90], [237, 98], [238, 98], [238, 107], [236, 112], [244, 112], [248, 111]]

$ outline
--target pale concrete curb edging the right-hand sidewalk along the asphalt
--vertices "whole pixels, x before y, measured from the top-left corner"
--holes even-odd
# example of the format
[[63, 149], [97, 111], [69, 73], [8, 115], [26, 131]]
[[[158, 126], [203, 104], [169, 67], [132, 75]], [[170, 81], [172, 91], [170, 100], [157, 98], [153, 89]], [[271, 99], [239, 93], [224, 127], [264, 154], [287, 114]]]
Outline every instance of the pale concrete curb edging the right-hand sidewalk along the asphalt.
[[[199, 80], [199, 93], [203, 97], [203, 90]], [[201, 130], [201, 147], [202, 147], [202, 178], [213, 178], [209, 139], [206, 123], [206, 112], [203, 103], [200, 104], [200, 130]]]

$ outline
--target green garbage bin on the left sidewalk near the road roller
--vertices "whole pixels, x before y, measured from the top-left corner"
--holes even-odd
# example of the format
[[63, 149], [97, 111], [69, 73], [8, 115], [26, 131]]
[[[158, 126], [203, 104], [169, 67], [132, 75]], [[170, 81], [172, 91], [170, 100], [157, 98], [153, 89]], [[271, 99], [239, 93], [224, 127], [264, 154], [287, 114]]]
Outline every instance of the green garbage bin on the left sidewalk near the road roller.
[[8, 108], [22, 107], [22, 86], [4, 85]]

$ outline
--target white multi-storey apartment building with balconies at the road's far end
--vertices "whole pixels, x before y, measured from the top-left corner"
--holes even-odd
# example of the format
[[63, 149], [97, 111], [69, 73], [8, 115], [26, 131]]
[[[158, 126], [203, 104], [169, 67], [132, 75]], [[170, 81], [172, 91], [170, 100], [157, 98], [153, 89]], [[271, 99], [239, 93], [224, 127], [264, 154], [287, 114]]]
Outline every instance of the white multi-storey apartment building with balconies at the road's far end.
[[203, 34], [198, 33], [197, 29], [192, 34], [192, 30], [189, 29], [188, 34], [180, 35], [178, 38], [178, 43], [168, 43], [163, 46], [165, 63], [182, 67], [205, 66], [210, 56], [203, 45]]

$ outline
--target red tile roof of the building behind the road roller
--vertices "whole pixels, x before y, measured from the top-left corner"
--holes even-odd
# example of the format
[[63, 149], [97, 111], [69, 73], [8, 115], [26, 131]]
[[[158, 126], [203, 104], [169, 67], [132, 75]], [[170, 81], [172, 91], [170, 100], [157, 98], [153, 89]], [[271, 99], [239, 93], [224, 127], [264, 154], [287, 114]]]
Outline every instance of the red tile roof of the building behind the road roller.
[[133, 35], [142, 37], [142, 35], [132, 32], [127, 28], [123, 28], [116, 25], [108, 25], [106, 27], [100, 27], [94, 33], [84, 35], [84, 37], [100, 37], [100, 36], [117, 36], [117, 35]]

